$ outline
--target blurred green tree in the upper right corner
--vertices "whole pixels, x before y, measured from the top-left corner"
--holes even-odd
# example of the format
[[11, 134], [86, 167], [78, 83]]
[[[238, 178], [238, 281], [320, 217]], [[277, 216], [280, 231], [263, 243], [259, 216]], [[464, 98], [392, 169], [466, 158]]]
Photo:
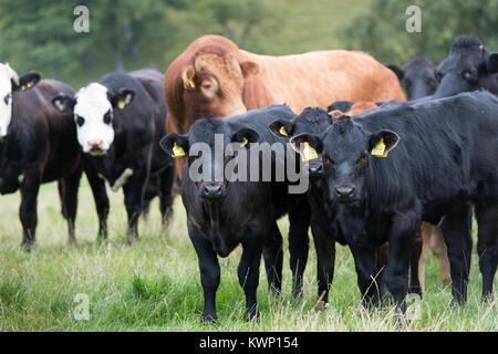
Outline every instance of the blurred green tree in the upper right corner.
[[[405, 29], [408, 6], [422, 10], [422, 32]], [[384, 63], [404, 65], [426, 55], [436, 64], [448, 54], [456, 35], [480, 39], [488, 50], [498, 50], [498, 0], [374, 0], [369, 12], [357, 15], [341, 35], [349, 49], [372, 53]]]

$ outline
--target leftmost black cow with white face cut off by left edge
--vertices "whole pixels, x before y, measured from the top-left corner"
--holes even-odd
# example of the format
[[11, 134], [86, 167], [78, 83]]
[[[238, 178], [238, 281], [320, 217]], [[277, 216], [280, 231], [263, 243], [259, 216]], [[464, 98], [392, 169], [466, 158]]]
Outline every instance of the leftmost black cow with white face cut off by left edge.
[[[1, 101], [7, 107], [2, 110], [1, 119], [2, 123], [8, 121], [8, 125], [1, 128], [0, 192], [21, 190], [22, 246], [30, 250], [35, 240], [40, 185], [58, 180], [62, 215], [69, 225], [69, 241], [74, 242], [81, 154], [74, 122], [69, 114], [54, 110], [51, 103], [60, 92], [68, 95], [74, 92], [59, 81], [40, 81], [38, 72], [19, 77], [6, 66], [0, 64], [0, 85], [2, 90], [8, 88]], [[7, 114], [9, 119], [6, 119]]]

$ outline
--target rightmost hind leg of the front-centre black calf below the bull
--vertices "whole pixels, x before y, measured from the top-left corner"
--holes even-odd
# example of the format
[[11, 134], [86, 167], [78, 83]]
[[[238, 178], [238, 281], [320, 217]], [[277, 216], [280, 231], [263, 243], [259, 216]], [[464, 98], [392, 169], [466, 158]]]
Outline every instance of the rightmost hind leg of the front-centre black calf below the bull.
[[302, 290], [302, 279], [308, 262], [310, 238], [310, 207], [303, 198], [303, 204], [289, 210], [289, 254], [292, 271], [292, 295], [298, 296]]

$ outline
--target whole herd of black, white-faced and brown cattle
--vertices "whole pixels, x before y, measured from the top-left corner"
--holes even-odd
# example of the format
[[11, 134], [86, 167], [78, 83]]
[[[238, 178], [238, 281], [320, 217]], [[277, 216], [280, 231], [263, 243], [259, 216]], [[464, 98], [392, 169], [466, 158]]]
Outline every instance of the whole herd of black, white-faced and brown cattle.
[[[281, 292], [277, 220], [284, 215], [293, 295], [302, 291], [311, 227], [319, 303], [328, 302], [335, 242], [351, 250], [365, 306], [392, 299], [403, 317], [407, 293], [424, 290], [429, 250], [454, 301], [464, 303], [475, 216], [483, 300], [492, 296], [498, 53], [475, 38], [457, 37], [437, 66], [416, 58], [402, 70], [359, 51], [268, 56], [205, 35], [165, 75], [113, 72], [77, 92], [0, 64], [0, 192], [21, 191], [27, 250], [35, 240], [43, 183], [59, 184], [70, 242], [82, 174], [95, 199], [98, 239], [107, 238], [106, 184], [123, 188], [133, 243], [155, 196], [167, 222], [178, 181], [205, 322], [217, 321], [218, 257], [239, 244], [245, 317], [259, 315], [261, 256], [270, 291]], [[274, 146], [284, 147], [284, 156]], [[236, 164], [238, 178], [219, 174]], [[300, 181], [290, 167], [309, 180], [305, 190], [292, 191]]]

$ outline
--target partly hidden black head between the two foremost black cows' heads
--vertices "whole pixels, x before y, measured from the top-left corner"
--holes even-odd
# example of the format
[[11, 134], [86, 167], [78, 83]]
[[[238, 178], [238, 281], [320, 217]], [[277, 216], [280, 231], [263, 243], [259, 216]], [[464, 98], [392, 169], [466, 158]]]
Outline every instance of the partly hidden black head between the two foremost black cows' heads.
[[[277, 119], [273, 121], [269, 127], [273, 135], [279, 137], [292, 138], [292, 136], [309, 133], [309, 134], [321, 134], [329, 125], [332, 124], [332, 116], [329, 115], [324, 110], [320, 107], [307, 107], [301, 112], [300, 115], [293, 117], [292, 119]], [[323, 175], [323, 163], [322, 156], [320, 154], [314, 154], [308, 159], [309, 162], [309, 174], [310, 177], [317, 178]]]

